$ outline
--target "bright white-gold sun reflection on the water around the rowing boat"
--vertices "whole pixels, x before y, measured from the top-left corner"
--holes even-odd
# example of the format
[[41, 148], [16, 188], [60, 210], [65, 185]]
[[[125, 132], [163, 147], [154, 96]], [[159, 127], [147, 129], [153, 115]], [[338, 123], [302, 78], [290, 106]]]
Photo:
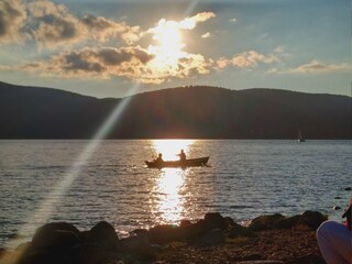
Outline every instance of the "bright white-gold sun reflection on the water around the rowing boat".
[[[164, 161], [178, 160], [180, 150], [187, 154], [194, 145], [194, 140], [154, 140], [154, 155], [163, 154]], [[151, 200], [152, 213], [157, 223], [178, 223], [187, 215], [185, 206], [185, 179], [189, 169], [163, 168], [158, 170]]]

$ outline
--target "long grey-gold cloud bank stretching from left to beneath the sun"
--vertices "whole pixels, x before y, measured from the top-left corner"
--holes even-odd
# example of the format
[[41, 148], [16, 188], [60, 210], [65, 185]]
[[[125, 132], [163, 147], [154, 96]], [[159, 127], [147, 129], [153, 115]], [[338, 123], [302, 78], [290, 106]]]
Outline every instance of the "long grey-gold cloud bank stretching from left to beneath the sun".
[[[28, 63], [16, 69], [64, 78], [109, 79], [125, 77], [144, 84], [162, 84], [172, 78], [205, 75], [211, 69], [211, 62], [200, 54], [186, 54], [170, 67], [155, 67], [154, 59], [153, 54], [139, 46], [86, 47], [80, 51], [61, 53], [47, 62]], [[6, 69], [9, 70], [9, 68], [2, 70]]]

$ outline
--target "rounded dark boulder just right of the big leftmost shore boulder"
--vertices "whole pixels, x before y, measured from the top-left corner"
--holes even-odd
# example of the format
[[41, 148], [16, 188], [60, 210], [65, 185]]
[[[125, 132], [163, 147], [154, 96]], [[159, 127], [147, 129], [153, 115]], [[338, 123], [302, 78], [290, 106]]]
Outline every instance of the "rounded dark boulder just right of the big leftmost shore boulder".
[[110, 223], [101, 221], [90, 229], [87, 241], [100, 244], [103, 251], [116, 251], [119, 237]]

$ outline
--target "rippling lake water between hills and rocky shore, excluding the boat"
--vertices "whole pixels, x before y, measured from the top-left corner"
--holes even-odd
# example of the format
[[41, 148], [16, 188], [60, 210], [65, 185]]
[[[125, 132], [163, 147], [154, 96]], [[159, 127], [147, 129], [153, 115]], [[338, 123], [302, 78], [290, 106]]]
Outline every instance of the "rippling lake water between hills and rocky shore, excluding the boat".
[[[145, 167], [180, 148], [209, 155], [209, 166]], [[107, 220], [125, 235], [209, 211], [237, 222], [305, 210], [340, 219], [332, 207], [352, 197], [351, 158], [352, 141], [0, 141], [0, 246], [30, 240], [48, 221], [87, 230]]]

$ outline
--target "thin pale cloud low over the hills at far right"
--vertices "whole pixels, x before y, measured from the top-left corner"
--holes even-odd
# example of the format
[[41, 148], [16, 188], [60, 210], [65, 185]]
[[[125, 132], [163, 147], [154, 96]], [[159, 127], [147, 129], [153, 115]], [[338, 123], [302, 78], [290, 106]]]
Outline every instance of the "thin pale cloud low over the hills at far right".
[[326, 73], [326, 72], [349, 70], [349, 69], [351, 69], [351, 66], [346, 64], [340, 64], [340, 65], [324, 64], [314, 59], [310, 63], [300, 65], [297, 68], [290, 69], [289, 72], [299, 73], [299, 74], [315, 74], [315, 73], [319, 74], [319, 73]]

